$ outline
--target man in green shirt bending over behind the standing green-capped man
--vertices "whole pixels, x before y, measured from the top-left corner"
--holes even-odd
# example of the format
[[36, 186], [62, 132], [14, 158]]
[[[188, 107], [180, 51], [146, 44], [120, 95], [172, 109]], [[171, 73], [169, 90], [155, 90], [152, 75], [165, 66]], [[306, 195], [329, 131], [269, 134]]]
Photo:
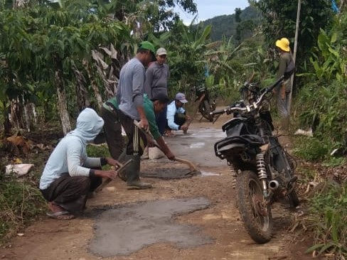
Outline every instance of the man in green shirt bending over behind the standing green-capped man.
[[[158, 143], [161, 148], [161, 151], [164, 152], [169, 160], [173, 161], [175, 159], [174, 154], [171, 152], [169, 146], [166, 145], [163, 136], [161, 136], [158, 126], [156, 124], [156, 114], [162, 112], [169, 102], [169, 97], [166, 94], [159, 93], [156, 96], [149, 99], [147, 94], [144, 94], [144, 113], [149, 123], [149, 131], [151, 132], [154, 140]], [[119, 121], [119, 107], [117, 102], [117, 97], [108, 99], [102, 105], [101, 117], [104, 119], [104, 131], [107, 146], [109, 147], [112, 158], [117, 159], [119, 162], [124, 163], [127, 161], [127, 154], [123, 149], [123, 140], [122, 140], [122, 124]], [[143, 140], [146, 146], [147, 141]], [[133, 180], [139, 180], [140, 173], [140, 161], [133, 163], [134, 167], [128, 167], [123, 175], [119, 175], [122, 180], [127, 182], [127, 185], [134, 188], [142, 189], [142, 185], [138, 187], [134, 185]], [[131, 182], [129, 180], [132, 180]], [[148, 188], [148, 187], [146, 187]], [[151, 188], [151, 187], [149, 187]]]

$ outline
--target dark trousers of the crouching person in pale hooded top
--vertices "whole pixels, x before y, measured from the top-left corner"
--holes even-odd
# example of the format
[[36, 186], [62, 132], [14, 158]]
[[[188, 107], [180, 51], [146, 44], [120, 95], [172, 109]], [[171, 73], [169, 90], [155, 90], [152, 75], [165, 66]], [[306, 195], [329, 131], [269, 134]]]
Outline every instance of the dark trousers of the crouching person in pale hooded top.
[[41, 190], [41, 193], [48, 202], [53, 202], [68, 212], [81, 214], [85, 209], [87, 194], [94, 191], [101, 183], [100, 177], [71, 177], [68, 173], [63, 173], [60, 178], [50, 183], [48, 188]]

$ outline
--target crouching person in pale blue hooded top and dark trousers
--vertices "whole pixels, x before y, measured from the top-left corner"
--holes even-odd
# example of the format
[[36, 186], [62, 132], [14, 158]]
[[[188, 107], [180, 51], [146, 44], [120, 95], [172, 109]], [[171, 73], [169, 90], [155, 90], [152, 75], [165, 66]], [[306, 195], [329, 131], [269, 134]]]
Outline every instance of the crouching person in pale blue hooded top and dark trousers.
[[87, 156], [87, 143], [95, 139], [103, 125], [104, 121], [93, 109], [83, 109], [76, 128], [50, 154], [40, 179], [40, 190], [50, 210], [48, 217], [75, 218], [83, 212], [88, 193], [102, 183], [102, 178], [116, 178], [116, 170], [101, 170], [105, 164], [117, 167], [116, 160]]

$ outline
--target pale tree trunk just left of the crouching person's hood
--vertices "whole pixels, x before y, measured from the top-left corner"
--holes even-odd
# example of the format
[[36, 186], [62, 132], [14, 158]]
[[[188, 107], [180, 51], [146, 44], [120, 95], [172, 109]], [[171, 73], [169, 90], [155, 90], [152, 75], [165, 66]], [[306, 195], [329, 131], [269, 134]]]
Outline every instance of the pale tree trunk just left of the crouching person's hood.
[[[60, 63], [61, 65], [61, 63]], [[68, 102], [66, 102], [65, 83], [63, 80], [63, 70], [58, 65], [58, 69], [55, 71], [55, 87], [58, 94], [57, 109], [60, 117], [61, 126], [63, 127], [64, 135], [71, 131], [70, 118], [68, 113]]]

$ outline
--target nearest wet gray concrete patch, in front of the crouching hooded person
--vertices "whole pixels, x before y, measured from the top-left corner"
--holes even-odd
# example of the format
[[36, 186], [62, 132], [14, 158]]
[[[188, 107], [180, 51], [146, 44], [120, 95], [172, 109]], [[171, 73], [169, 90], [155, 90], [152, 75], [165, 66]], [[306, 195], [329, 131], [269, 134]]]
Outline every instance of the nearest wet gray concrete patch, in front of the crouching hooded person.
[[190, 248], [213, 242], [201, 228], [175, 222], [177, 215], [203, 210], [210, 205], [205, 197], [139, 202], [105, 210], [96, 218], [95, 237], [90, 251], [102, 257], [128, 256], [156, 243], [172, 243]]

